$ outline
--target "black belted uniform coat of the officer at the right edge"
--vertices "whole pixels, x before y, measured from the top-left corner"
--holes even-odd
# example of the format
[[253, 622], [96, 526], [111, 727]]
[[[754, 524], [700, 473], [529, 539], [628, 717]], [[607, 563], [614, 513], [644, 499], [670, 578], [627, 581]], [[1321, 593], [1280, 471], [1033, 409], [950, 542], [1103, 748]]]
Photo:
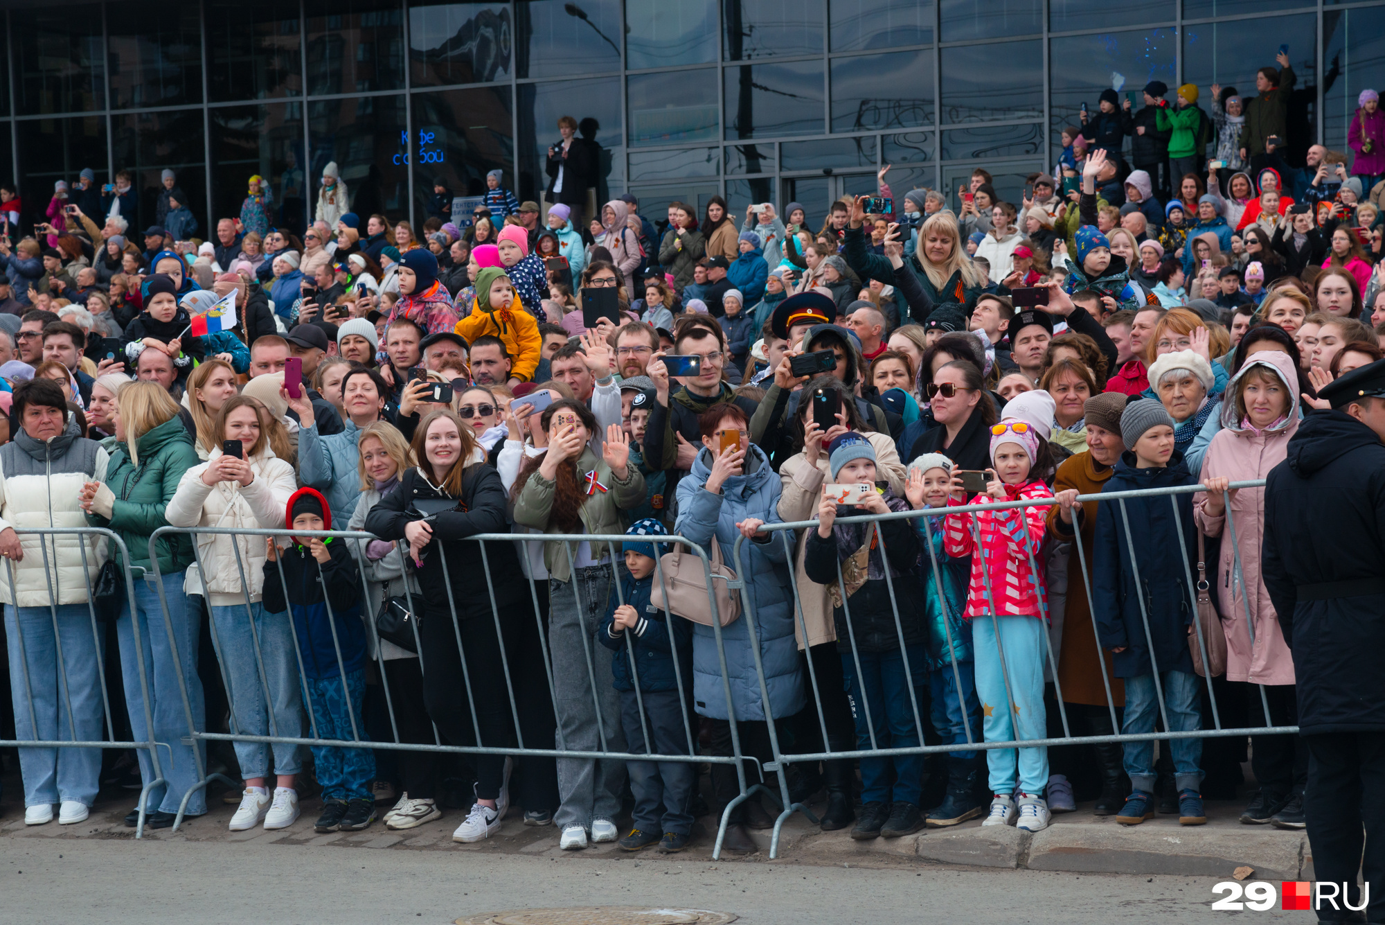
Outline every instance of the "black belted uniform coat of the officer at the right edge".
[[1385, 730], [1382, 537], [1385, 446], [1345, 411], [1312, 411], [1266, 481], [1260, 547], [1303, 735]]

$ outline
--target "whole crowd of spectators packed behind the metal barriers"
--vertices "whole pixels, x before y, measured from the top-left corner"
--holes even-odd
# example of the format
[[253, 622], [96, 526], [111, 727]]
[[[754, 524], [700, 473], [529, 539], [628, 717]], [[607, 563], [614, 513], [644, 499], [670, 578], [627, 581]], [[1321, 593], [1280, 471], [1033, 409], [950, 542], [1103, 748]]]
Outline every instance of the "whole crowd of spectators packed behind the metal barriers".
[[[726, 757], [734, 720], [767, 762], [773, 720], [802, 753], [956, 746], [783, 771], [859, 839], [976, 817], [1039, 831], [1087, 799], [1126, 825], [1201, 824], [1205, 798], [1237, 798], [1249, 746], [1241, 821], [1303, 828], [1302, 735], [1174, 738], [1158, 757], [1152, 741], [968, 748], [1202, 730], [1213, 697], [1223, 727], [1309, 724], [1266, 590], [1265, 489], [1230, 485], [1312, 453], [1314, 421], [1368, 417], [1332, 384], [1382, 359], [1385, 138], [1353, 136], [1356, 176], [1321, 147], [1283, 163], [1292, 79], [1263, 68], [1249, 101], [1212, 87], [1210, 119], [1191, 86], [1170, 107], [1151, 83], [1134, 114], [1102, 94], [1022, 202], [976, 169], [957, 212], [933, 190], [893, 213], [846, 197], [744, 219], [712, 197], [672, 204], [659, 234], [632, 195], [583, 215], [575, 194], [521, 202], [496, 172], [465, 228], [434, 215], [421, 241], [349, 210], [299, 241], [249, 209], [211, 241], [157, 226], [141, 248], [118, 215], [98, 227], [60, 202], [0, 242], [18, 738], [168, 742], [155, 828], [205, 760], [244, 781], [233, 831], [292, 824], [314, 788], [324, 832], [377, 805], [392, 829], [456, 807], [471, 842], [512, 802], [564, 849], [676, 852], [740, 793], [726, 762], [709, 802], [687, 762], [309, 762], [249, 741], [208, 759], [183, 691], [197, 730], [242, 735]], [[1377, 105], [1361, 94], [1363, 137]], [[560, 191], [565, 156], [550, 151]], [[1090, 500], [1129, 489], [1166, 492]], [[892, 511], [920, 514], [839, 522]], [[816, 526], [774, 528], [801, 521]], [[123, 555], [100, 536], [15, 533], [54, 526], [120, 536], [133, 612], [100, 590]], [[295, 535], [151, 548], [163, 526]], [[334, 529], [373, 539], [314, 535]], [[517, 541], [470, 539], [494, 533]], [[544, 539], [573, 533], [625, 540]], [[753, 636], [734, 613], [669, 612], [668, 535], [741, 572]], [[1220, 640], [1194, 631], [1202, 562]], [[147, 752], [122, 760], [19, 749], [25, 821], [76, 823], [102, 781], [154, 780]], [[187, 814], [205, 811], [195, 789]], [[740, 803], [723, 847], [753, 852], [747, 829], [771, 823]]]

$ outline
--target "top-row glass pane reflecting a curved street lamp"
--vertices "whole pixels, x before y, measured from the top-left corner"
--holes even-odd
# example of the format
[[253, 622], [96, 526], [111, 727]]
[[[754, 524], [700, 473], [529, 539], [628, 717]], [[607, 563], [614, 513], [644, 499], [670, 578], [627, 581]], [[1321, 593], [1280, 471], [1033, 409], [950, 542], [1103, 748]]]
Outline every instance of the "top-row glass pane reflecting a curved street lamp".
[[517, 3], [517, 73], [558, 78], [619, 71], [622, 29], [620, 0]]

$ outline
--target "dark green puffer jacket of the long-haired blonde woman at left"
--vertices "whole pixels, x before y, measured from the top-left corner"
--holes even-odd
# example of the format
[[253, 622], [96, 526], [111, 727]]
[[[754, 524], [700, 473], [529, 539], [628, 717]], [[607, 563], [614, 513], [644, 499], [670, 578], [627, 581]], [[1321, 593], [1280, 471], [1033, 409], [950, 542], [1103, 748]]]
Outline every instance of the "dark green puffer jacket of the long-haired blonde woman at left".
[[[181, 418], [158, 425], [136, 444], [138, 465], [130, 461], [125, 443], [107, 446], [111, 454], [105, 471], [96, 474], [115, 493], [111, 519], [89, 514], [94, 526], [108, 526], [120, 535], [130, 550], [132, 569], [150, 569], [150, 535], [168, 526], [163, 511], [177, 490], [183, 474], [202, 460], [193, 449], [193, 438]], [[159, 572], [181, 572], [193, 564], [193, 537], [186, 533], [165, 536], [158, 541]], [[136, 575], [138, 577], [138, 575]]]

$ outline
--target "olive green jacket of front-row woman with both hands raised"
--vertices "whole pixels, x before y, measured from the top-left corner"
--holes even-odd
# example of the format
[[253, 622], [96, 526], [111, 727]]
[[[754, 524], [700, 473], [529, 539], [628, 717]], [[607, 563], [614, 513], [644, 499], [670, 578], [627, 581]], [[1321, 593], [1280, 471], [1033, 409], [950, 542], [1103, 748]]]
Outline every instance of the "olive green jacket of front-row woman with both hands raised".
[[[568, 465], [572, 464], [568, 462]], [[582, 503], [582, 508], [579, 510], [582, 518], [580, 530], [564, 530], [551, 522], [550, 515], [553, 514], [553, 490], [555, 482], [543, 478], [537, 469], [529, 475], [529, 481], [525, 482], [519, 497], [515, 499], [515, 523], [543, 530], [544, 533], [625, 533], [625, 521], [620, 512], [632, 511], [644, 504], [644, 476], [640, 475], [640, 469], [634, 465], [627, 465], [627, 478], [625, 482], [620, 482], [611, 475], [611, 467], [597, 458], [591, 447], [582, 449], [582, 456], [578, 458], [575, 468], [578, 469], [578, 485], [583, 490], [587, 486], [587, 472], [593, 471], [596, 472], [597, 482], [607, 487], [605, 492], [596, 489]], [[562, 546], [564, 543], [561, 541], [544, 543], [543, 565], [548, 569], [550, 576], [560, 582], [566, 582], [572, 577], [572, 564], [562, 551]], [[620, 547], [616, 546], [615, 548], [619, 555]], [[605, 550], [593, 550], [593, 558], [598, 561], [605, 554]]]

